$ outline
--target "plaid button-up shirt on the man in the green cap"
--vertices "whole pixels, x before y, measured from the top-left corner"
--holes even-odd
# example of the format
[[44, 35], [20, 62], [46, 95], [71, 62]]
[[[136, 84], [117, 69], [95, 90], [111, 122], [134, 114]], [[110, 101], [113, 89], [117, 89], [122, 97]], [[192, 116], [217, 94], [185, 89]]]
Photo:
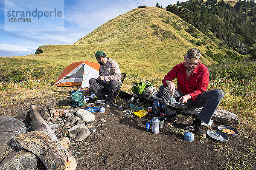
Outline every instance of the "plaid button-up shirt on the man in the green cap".
[[111, 83], [113, 80], [121, 83], [121, 71], [118, 63], [113, 59], [108, 58], [105, 65], [99, 66], [99, 75], [105, 77], [105, 80], [103, 81], [105, 83]]

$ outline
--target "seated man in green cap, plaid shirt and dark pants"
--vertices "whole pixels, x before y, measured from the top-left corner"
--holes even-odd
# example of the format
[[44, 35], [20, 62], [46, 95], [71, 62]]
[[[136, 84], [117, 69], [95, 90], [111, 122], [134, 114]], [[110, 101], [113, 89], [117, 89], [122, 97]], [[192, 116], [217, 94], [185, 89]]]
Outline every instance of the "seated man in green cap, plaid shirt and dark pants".
[[95, 54], [97, 61], [99, 62], [99, 77], [97, 79], [90, 79], [89, 89], [92, 89], [98, 99], [105, 97], [104, 92], [108, 92], [107, 101], [110, 107], [113, 105], [113, 96], [121, 88], [121, 71], [118, 63], [106, 57], [103, 51], [97, 51]]

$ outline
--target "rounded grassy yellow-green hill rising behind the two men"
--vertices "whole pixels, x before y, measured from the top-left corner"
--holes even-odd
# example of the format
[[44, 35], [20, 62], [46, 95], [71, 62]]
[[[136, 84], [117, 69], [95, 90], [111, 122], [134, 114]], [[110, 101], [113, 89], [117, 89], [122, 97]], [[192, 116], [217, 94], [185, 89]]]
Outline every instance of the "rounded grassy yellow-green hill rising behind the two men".
[[[96, 51], [102, 50], [108, 57], [119, 62], [122, 72], [162, 77], [170, 68], [183, 61], [183, 55], [189, 48], [197, 47], [204, 53], [207, 51], [206, 47], [211, 46], [214, 54], [224, 53], [218, 51], [217, 45], [201, 32], [197, 31], [198, 38], [192, 37], [185, 31], [188, 26], [188, 23], [175, 14], [161, 8], [137, 8], [96, 28], [74, 45], [43, 45], [40, 48], [44, 53], [15, 59], [45, 62], [47, 64], [41, 66], [56, 69], [56, 79], [61, 69], [72, 62], [96, 62], [95, 58], [91, 57]], [[205, 45], [197, 46], [195, 42], [192, 44], [191, 40], [204, 41]], [[1, 60], [4, 60], [4, 63], [11, 62], [8, 58]], [[216, 63], [210, 57], [202, 57], [201, 62], [206, 65]], [[6, 69], [8, 72], [9, 68]], [[17, 69], [28, 68], [24, 64], [19, 65]]]

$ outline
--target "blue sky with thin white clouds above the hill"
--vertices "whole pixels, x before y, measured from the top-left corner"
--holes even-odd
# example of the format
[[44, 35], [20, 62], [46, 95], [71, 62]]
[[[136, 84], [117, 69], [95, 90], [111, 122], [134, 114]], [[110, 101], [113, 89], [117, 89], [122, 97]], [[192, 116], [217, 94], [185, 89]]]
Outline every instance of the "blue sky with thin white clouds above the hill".
[[109, 20], [157, 2], [164, 8], [177, 0], [0, 0], [0, 56], [35, 54], [40, 45], [73, 44]]

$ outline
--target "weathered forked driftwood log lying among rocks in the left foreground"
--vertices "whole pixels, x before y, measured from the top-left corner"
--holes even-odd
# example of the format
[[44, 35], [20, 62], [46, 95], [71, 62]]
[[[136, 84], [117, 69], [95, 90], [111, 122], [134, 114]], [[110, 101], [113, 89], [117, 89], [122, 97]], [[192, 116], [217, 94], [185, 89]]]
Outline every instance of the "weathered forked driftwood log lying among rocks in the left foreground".
[[30, 116], [35, 131], [17, 135], [15, 139], [20, 146], [37, 155], [47, 170], [75, 170], [76, 159], [60, 144], [36, 105], [31, 106]]

